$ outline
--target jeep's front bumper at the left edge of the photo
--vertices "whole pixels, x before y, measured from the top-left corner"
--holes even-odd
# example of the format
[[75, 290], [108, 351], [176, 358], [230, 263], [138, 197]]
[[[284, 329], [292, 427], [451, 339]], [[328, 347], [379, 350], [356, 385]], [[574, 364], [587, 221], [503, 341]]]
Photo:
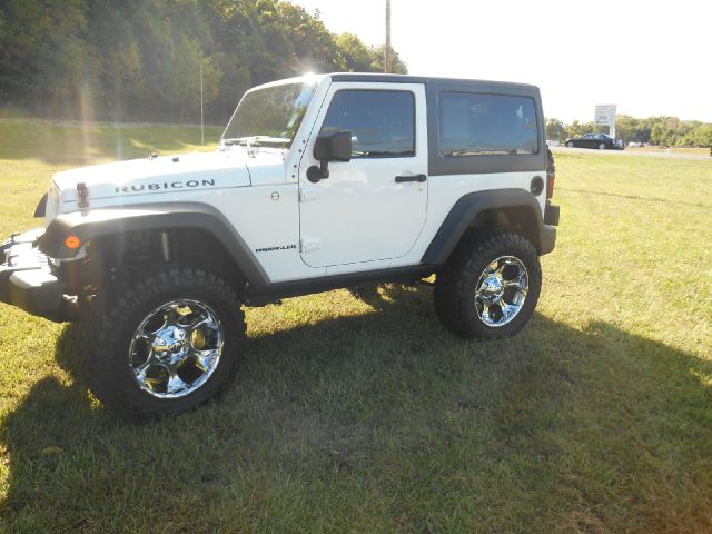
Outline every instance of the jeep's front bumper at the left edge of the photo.
[[52, 320], [62, 320], [65, 284], [36, 246], [42, 228], [16, 234], [0, 246], [0, 301]]

